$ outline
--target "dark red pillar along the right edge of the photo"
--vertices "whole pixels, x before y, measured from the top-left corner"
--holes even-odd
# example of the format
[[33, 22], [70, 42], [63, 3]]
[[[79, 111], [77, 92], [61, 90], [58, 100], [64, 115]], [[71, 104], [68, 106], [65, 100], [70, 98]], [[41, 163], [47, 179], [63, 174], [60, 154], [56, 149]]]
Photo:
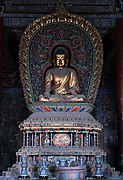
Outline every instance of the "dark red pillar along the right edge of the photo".
[[123, 19], [116, 21], [116, 86], [119, 155], [123, 154]]

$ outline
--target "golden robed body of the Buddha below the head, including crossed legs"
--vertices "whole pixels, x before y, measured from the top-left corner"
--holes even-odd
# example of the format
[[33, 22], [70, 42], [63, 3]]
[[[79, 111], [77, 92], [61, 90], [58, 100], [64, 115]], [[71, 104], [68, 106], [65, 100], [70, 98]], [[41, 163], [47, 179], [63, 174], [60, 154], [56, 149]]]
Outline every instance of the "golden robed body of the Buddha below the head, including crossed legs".
[[84, 101], [84, 95], [79, 94], [80, 88], [76, 71], [72, 68], [52, 68], [45, 76], [45, 92], [50, 98], [39, 96], [39, 101]]

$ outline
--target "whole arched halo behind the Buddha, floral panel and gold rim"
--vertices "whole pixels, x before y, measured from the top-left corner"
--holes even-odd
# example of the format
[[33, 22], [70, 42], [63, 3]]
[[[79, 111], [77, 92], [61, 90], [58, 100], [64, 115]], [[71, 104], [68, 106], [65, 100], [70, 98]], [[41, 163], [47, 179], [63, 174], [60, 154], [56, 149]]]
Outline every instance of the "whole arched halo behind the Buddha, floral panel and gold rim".
[[57, 45], [69, 48], [70, 66], [76, 69], [81, 93], [92, 107], [101, 78], [102, 40], [90, 22], [66, 11], [36, 19], [23, 33], [19, 61], [27, 107], [44, 92], [44, 75], [52, 66], [52, 50]]

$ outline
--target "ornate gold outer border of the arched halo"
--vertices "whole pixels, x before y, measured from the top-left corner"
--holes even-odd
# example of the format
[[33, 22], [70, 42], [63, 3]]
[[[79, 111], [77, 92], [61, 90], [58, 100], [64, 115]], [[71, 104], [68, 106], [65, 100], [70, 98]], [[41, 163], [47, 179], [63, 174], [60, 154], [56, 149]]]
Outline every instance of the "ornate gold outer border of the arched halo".
[[33, 35], [44, 27], [47, 24], [54, 24], [54, 23], [68, 23], [68, 24], [76, 24], [77, 26], [81, 27], [84, 31], [86, 31], [93, 40], [94, 43], [94, 51], [96, 55], [95, 65], [94, 65], [94, 78], [92, 80], [92, 86], [90, 89], [90, 94], [88, 95], [89, 103], [94, 104], [97, 91], [99, 88], [99, 83], [101, 79], [101, 71], [103, 65], [103, 45], [102, 39], [98, 33], [98, 31], [91, 25], [90, 22], [85, 20], [84, 18], [69, 14], [65, 10], [55, 12], [51, 15], [47, 15], [41, 17], [39, 19], [34, 20], [25, 30], [23, 36], [20, 41], [19, 46], [19, 63], [20, 63], [20, 76], [24, 90], [24, 97], [27, 103], [27, 106], [30, 103], [33, 103], [33, 95], [31, 92], [31, 88], [29, 85], [29, 77], [28, 77], [28, 53], [29, 53], [29, 44], [33, 37]]

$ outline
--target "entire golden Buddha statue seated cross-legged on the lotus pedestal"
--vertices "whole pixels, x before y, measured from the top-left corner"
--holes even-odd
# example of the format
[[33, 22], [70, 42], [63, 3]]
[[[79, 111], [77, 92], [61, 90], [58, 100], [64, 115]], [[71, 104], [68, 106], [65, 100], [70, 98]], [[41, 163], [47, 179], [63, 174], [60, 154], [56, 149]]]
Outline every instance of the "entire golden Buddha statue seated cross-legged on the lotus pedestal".
[[39, 96], [39, 101], [85, 102], [85, 96], [80, 94], [77, 73], [68, 67], [67, 48], [55, 48], [52, 56], [54, 67], [46, 71], [45, 92]]

